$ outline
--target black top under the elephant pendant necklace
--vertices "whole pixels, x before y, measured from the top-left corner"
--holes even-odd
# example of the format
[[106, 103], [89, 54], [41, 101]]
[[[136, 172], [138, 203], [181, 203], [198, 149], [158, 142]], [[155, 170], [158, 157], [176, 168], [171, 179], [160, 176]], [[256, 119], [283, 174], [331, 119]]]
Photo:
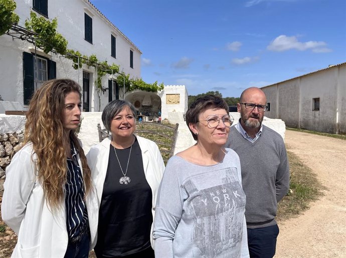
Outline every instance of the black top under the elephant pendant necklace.
[[[116, 149], [121, 168], [126, 172], [130, 148]], [[152, 194], [145, 179], [142, 154], [137, 139], [132, 145], [126, 176], [123, 177], [114, 147], [110, 145], [107, 174], [99, 210], [95, 253], [116, 257], [139, 252], [150, 246]]]

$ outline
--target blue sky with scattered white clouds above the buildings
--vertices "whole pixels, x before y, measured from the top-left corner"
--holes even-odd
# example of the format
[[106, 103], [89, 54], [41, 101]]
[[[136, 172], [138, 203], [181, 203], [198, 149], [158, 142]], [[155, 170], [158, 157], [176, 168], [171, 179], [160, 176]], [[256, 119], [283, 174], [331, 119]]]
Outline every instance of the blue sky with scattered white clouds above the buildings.
[[346, 62], [345, 0], [91, 0], [142, 52], [146, 83], [240, 97]]

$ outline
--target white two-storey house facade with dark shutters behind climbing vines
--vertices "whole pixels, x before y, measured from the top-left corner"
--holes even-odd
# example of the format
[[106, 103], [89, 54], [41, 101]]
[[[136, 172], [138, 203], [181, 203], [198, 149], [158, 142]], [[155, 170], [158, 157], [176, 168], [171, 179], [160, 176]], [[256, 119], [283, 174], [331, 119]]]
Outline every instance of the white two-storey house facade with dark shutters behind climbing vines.
[[[30, 12], [49, 20], [57, 18], [57, 32], [68, 41], [68, 49], [82, 55], [96, 55], [100, 62], [120, 66], [119, 71], [140, 78], [141, 51], [88, 0], [15, 0], [19, 26], [25, 27]], [[73, 79], [83, 87], [83, 111], [101, 111], [113, 99], [124, 96], [113, 76], [102, 78], [97, 91], [96, 68], [83, 65], [75, 70], [72, 61], [53, 53], [45, 54], [25, 40], [0, 36], [0, 95], [26, 110], [32, 94], [47, 80]]]

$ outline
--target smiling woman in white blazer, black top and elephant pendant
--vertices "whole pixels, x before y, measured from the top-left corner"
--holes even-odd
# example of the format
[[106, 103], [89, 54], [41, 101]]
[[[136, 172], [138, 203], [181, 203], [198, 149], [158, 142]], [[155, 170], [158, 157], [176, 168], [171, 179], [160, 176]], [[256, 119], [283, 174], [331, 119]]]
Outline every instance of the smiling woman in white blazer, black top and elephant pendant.
[[152, 220], [164, 163], [157, 145], [134, 134], [136, 110], [113, 100], [102, 112], [109, 138], [91, 147], [88, 163], [99, 200], [100, 257], [154, 257]]

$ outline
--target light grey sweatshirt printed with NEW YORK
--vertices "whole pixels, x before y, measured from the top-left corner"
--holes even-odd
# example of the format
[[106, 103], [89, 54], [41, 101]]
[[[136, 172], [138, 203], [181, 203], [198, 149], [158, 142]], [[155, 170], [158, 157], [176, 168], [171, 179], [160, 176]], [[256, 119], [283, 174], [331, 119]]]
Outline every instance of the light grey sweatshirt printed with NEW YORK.
[[249, 257], [238, 155], [201, 166], [169, 159], [159, 187], [155, 257]]

